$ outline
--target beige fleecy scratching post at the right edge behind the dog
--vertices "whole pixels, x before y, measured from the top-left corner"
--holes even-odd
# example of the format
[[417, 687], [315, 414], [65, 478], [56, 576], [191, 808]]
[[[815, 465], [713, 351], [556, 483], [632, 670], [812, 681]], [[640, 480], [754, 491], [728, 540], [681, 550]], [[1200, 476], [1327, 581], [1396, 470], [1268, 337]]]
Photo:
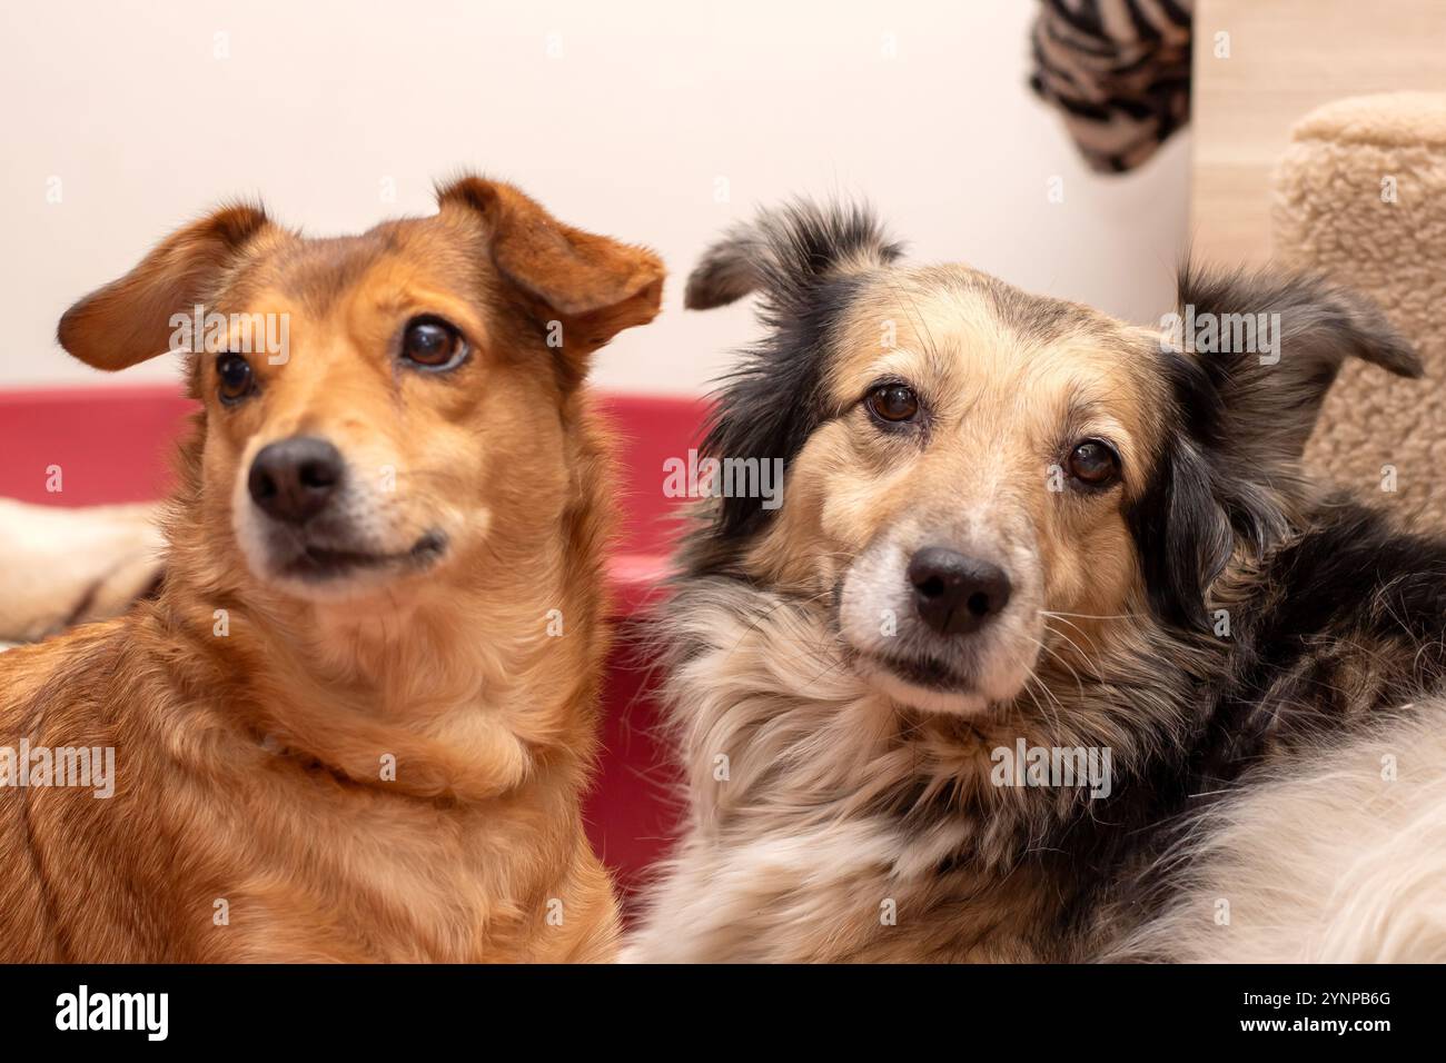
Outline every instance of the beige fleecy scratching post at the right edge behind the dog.
[[1421, 380], [1346, 363], [1309, 467], [1446, 528], [1446, 94], [1352, 97], [1307, 114], [1275, 174], [1271, 229], [1281, 262], [1372, 296], [1426, 363]]

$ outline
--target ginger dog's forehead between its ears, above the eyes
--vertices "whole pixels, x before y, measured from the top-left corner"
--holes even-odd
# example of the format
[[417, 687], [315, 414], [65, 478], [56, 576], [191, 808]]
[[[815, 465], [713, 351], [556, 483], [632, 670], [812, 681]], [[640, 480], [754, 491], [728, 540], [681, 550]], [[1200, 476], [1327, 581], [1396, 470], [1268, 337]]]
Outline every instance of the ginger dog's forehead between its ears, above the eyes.
[[259, 292], [278, 292], [315, 315], [377, 281], [469, 298], [483, 288], [482, 256], [471, 236], [435, 217], [386, 221], [357, 236], [288, 234], [252, 249], [228, 295], [246, 302]]

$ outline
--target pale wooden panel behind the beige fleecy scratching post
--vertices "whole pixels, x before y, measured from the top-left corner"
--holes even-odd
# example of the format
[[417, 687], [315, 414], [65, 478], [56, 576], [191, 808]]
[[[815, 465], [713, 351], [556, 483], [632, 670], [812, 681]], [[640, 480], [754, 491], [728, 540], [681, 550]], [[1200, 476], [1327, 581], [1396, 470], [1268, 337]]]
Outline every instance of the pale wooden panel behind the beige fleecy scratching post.
[[1271, 175], [1307, 111], [1446, 91], [1446, 0], [1197, 0], [1194, 26], [1190, 229], [1202, 259], [1270, 256]]

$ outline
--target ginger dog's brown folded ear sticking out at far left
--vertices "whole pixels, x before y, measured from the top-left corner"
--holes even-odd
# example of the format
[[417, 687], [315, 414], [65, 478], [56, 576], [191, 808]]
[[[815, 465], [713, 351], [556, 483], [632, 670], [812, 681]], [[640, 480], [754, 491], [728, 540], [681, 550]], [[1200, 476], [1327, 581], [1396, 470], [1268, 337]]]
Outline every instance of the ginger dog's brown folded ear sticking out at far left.
[[260, 207], [237, 204], [181, 229], [119, 281], [61, 317], [56, 340], [95, 369], [117, 370], [169, 350], [174, 314], [191, 314], [241, 249], [270, 226]]

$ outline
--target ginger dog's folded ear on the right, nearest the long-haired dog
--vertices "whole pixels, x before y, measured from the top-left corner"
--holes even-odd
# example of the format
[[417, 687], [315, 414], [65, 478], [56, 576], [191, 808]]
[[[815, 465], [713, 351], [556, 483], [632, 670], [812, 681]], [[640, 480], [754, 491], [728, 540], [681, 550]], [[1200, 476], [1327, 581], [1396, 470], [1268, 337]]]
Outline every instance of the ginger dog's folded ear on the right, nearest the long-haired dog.
[[463, 176], [438, 188], [442, 210], [476, 214], [492, 262], [544, 320], [562, 324], [562, 349], [590, 353], [658, 314], [662, 262], [651, 250], [565, 226], [512, 185]]

